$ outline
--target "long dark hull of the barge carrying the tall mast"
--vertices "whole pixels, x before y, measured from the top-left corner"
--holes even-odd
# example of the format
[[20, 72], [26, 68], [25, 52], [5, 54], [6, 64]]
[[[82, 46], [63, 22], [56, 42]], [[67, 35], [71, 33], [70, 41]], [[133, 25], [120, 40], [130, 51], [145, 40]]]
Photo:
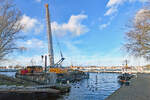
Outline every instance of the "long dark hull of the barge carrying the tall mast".
[[89, 74], [81, 71], [68, 71], [66, 73], [27, 73], [24, 75], [16, 73], [16, 78], [32, 81], [41, 85], [54, 85], [59, 83], [68, 83], [87, 79], [89, 78]]

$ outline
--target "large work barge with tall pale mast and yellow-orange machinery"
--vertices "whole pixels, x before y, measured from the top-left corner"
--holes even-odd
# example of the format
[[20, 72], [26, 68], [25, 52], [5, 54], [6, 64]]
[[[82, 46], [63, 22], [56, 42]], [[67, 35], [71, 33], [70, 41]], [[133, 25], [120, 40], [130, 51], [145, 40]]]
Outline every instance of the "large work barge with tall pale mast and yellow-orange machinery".
[[[48, 4], [45, 5], [46, 8], [46, 22], [47, 22], [47, 37], [48, 37], [48, 55], [41, 56], [42, 60], [45, 59], [45, 68], [41, 66], [27, 66], [16, 73], [17, 78], [38, 82], [39, 84], [56, 84], [67, 81], [81, 80], [85, 78], [87, 74], [82, 71], [72, 71], [68, 68], [63, 68], [61, 66], [62, 62], [65, 60], [63, 54], [60, 50], [61, 59], [54, 63], [54, 53], [53, 53], [53, 43], [52, 43], [52, 32], [51, 24], [49, 18], [49, 8]], [[49, 57], [49, 59], [47, 59]], [[47, 60], [49, 61], [49, 66], [47, 66]]]

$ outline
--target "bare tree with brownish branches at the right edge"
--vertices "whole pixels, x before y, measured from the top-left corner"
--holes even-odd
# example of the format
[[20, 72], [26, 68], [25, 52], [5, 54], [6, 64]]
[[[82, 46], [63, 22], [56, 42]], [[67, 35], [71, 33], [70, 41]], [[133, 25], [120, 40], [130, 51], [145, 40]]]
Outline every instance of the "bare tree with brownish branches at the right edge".
[[150, 57], [150, 9], [140, 9], [125, 33], [127, 52], [134, 56]]

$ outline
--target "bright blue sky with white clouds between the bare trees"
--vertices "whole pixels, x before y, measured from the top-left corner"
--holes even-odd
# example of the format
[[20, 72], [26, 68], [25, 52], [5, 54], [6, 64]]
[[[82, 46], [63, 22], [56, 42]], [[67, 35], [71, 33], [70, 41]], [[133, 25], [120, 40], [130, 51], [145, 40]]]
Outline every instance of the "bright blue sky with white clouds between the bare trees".
[[[45, 4], [49, 4], [55, 62], [60, 49], [67, 65], [118, 66], [128, 59], [130, 65], [146, 64], [144, 59], [129, 56], [122, 48], [125, 27], [149, 0], [14, 0], [22, 12], [20, 32], [24, 40], [16, 41], [24, 52], [9, 55], [6, 65], [43, 64], [47, 33]], [[58, 43], [60, 46], [58, 46]]]

